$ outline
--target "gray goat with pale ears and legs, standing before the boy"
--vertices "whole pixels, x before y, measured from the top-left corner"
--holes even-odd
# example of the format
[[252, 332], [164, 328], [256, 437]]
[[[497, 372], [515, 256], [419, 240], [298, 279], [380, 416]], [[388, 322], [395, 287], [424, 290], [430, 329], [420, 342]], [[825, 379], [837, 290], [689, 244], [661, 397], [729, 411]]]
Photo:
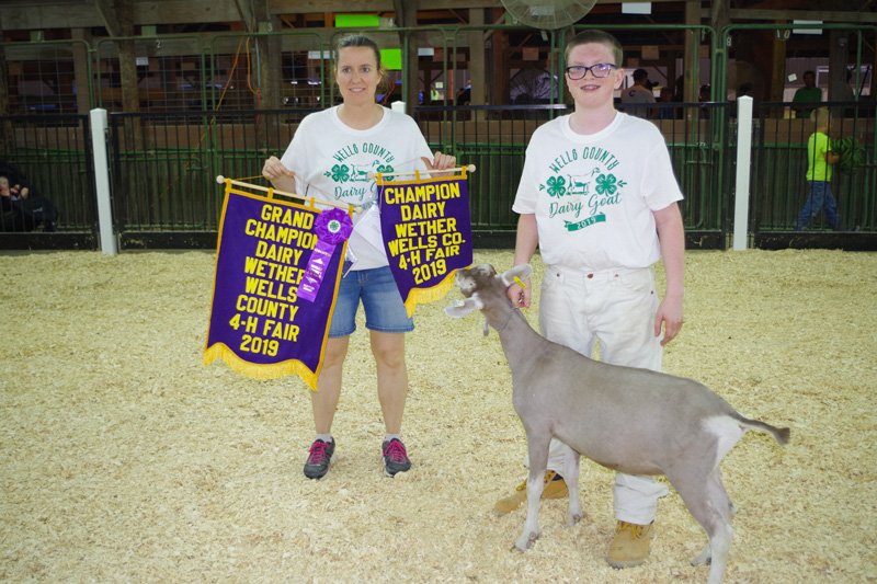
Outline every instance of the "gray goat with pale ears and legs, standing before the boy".
[[527, 516], [515, 547], [526, 550], [539, 536], [539, 497], [556, 437], [570, 448], [563, 478], [569, 485], [567, 525], [584, 514], [579, 501], [579, 457], [628, 474], [665, 474], [708, 541], [692, 562], [711, 561], [709, 584], [725, 579], [731, 547], [733, 504], [719, 463], [749, 430], [788, 442], [789, 430], [749, 420], [706, 386], [648, 369], [590, 359], [540, 336], [506, 298], [515, 277], [529, 265], [498, 275], [481, 264], [456, 275], [465, 300], [445, 308], [463, 318], [480, 310], [500, 335], [512, 370], [512, 402], [524, 424], [529, 454]]

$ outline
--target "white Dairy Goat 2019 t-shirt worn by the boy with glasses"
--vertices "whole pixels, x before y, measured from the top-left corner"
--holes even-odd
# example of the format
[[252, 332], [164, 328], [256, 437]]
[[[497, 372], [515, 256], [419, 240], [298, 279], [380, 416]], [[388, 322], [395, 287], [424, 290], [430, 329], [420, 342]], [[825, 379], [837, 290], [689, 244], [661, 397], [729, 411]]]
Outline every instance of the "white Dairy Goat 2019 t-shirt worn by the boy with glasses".
[[527, 146], [512, 209], [535, 214], [543, 261], [582, 271], [648, 267], [661, 257], [652, 211], [682, 199], [654, 124], [616, 112], [597, 134], [570, 115]]

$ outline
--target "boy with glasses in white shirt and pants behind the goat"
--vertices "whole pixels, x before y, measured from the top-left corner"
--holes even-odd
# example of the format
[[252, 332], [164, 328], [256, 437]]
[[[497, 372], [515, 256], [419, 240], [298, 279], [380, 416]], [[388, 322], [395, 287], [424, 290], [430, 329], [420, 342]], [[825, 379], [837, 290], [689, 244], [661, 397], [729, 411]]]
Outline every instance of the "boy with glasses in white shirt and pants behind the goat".
[[[582, 32], [567, 45], [576, 107], [538, 128], [527, 147], [512, 207], [520, 214], [514, 263], [528, 263], [539, 247], [546, 264], [539, 328], [546, 337], [586, 356], [599, 340], [606, 363], [658, 370], [662, 345], [682, 327], [682, 193], [657, 127], [613, 105], [624, 79], [622, 58], [618, 41], [601, 31]], [[667, 295], [659, 305], [651, 266], [662, 255]], [[524, 284], [508, 294], [516, 306], [529, 307], [532, 288]], [[551, 440], [544, 497], [567, 494], [558, 472], [563, 448]], [[526, 481], [497, 511], [521, 505], [525, 489]], [[649, 552], [658, 499], [668, 490], [651, 477], [617, 474], [614, 492], [617, 526], [608, 562], [639, 565]]]

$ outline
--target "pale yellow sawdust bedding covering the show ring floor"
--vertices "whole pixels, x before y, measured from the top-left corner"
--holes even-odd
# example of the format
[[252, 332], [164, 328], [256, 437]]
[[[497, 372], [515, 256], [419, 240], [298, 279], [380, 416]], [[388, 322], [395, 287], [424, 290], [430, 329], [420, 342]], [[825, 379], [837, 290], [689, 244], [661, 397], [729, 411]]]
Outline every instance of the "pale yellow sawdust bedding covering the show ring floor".
[[[510, 251], [476, 262], [511, 266]], [[725, 459], [739, 507], [728, 582], [877, 581], [877, 254], [690, 252], [664, 368], [793, 430]], [[537, 277], [542, 265], [535, 262]], [[383, 477], [367, 335], [354, 334], [338, 462], [301, 474], [308, 389], [201, 364], [214, 256], [0, 256], [0, 580], [10, 582], [705, 582], [674, 493], [648, 562], [613, 571], [613, 474], [582, 465], [585, 519], [542, 504], [510, 551], [525, 438], [496, 333], [420, 306], [408, 337], [413, 469]], [[660, 280], [660, 270], [659, 280]], [[528, 317], [535, 322], [536, 311]]]

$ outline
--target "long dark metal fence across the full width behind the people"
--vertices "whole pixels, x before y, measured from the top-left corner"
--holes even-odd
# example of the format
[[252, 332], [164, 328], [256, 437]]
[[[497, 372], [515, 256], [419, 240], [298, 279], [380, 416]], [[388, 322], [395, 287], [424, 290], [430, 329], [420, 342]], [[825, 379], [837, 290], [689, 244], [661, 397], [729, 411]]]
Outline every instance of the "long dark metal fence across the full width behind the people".
[[[875, 249], [877, 172], [875, 104], [836, 104], [832, 134], [855, 136], [863, 164], [835, 173], [832, 183], [842, 232], [818, 218], [809, 231], [793, 230], [807, 194], [807, 138], [812, 124], [775, 119], [762, 105], [752, 146], [753, 242], [762, 248]], [[619, 108], [624, 108], [619, 105]], [[223, 190], [219, 174], [264, 183], [262, 162], [280, 156], [298, 123], [314, 110], [112, 114], [109, 157], [114, 231], [122, 249], [212, 248]], [[566, 105], [423, 106], [415, 116], [433, 149], [476, 164], [469, 175], [472, 227], [481, 247], [511, 245], [511, 210], [533, 131], [565, 115]], [[685, 195], [681, 203], [690, 248], [724, 249], [732, 226], [737, 122], [730, 103], [663, 103], [653, 123], [663, 134]], [[90, 130], [86, 116], [0, 118], [12, 137], [2, 161], [20, 168], [55, 203], [56, 231], [0, 233], [2, 248], [95, 249], [96, 210]], [[101, 137], [103, 139], [103, 137]], [[864, 239], [863, 239], [864, 238]]]

